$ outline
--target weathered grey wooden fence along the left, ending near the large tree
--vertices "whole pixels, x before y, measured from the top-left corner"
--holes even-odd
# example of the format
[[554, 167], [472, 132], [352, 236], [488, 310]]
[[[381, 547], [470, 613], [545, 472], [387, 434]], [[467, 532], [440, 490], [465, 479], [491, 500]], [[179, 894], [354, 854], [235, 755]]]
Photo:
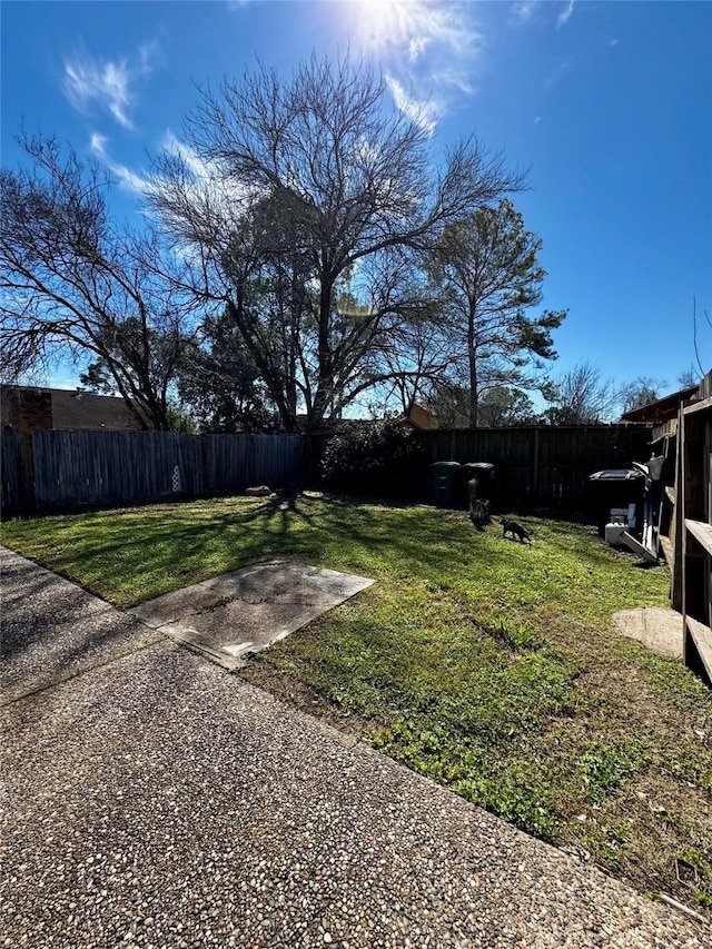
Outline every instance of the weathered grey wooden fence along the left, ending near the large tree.
[[301, 459], [296, 435], [6, 432], [2, 515], [284, 487], [300, 481]]

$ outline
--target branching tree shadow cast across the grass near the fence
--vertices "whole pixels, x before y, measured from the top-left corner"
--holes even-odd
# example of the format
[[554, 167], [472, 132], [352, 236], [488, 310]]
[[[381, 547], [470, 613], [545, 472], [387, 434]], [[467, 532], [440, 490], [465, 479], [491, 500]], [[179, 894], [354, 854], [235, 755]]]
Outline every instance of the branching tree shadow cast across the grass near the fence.
[[[501, 570], [518, 569], [520, 558], [531, 570], [544, 548], [571, 554], [576, 543], [571, 527], [543, 523], [535, 525], [535, 543], [527, 551], [505, 544], [495, 525], [474, 530], [466, 512], [375, 506], [333, 495], [257, 503], [217, 500], [42, 523], [44, 545], [32, 548], [38, 532], [32, 536], [26, 531], [30, 555], [121, 606], [277, 558], [390, 575], [399, 582], [443, 571], [466, 577], [473, 562], [486, 561], [495, 577]], [[27, 550], [22, 531], [17, 533], [20, 548]], [[576, 556], [594, 569], [610, 552], [603, 544], [599, 551], [583, 543]]]

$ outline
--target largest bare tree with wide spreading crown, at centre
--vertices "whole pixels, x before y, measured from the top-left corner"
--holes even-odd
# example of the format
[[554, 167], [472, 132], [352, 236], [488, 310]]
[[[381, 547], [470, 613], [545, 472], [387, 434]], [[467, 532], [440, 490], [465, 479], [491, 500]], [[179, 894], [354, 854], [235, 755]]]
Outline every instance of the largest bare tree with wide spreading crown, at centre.
[[297, 404], [318, 426], [385, 380], [370, 357], [404, 319], [408, 254], [522, 186], [475, 139], [436, 166], [422, 126], [348, 59], [225, 81], [186, 134], [157, 164], [152, 206], [199, 255], [202, 291], [225, 301], [289, 429]]

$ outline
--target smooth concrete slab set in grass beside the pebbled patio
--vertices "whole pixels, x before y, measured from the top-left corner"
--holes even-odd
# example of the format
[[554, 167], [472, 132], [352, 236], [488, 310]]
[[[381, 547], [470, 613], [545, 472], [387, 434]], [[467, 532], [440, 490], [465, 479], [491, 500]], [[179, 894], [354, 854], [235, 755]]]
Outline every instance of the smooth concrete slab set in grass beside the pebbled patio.
[[141, 603], [129, 613], [227, 669], [374, 583], [299, 563], [256, 564]]

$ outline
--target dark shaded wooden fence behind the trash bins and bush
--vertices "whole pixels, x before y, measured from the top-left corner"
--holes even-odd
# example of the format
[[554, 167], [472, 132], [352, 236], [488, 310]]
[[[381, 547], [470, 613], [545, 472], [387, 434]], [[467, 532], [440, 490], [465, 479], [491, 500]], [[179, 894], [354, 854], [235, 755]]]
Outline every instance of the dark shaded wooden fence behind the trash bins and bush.
[[[429, 464], [492, 462], [495, 497], [502, 503], [540, 504], [568, 510], [587, 507], [589, 476], [602, 468], [630, 467], [650, 457], [644, 425], [526, 426], [521, 428], [436, 429], [413, 432], [427, 462], [404, 472], [403, 495], [433, 498]], [[317, 481], [328, 436], [309, 436], [306, 477]], [[377, 490], [369, 486], [364, 490]], [[459, 493], [463, 503], [466, 491]]]

